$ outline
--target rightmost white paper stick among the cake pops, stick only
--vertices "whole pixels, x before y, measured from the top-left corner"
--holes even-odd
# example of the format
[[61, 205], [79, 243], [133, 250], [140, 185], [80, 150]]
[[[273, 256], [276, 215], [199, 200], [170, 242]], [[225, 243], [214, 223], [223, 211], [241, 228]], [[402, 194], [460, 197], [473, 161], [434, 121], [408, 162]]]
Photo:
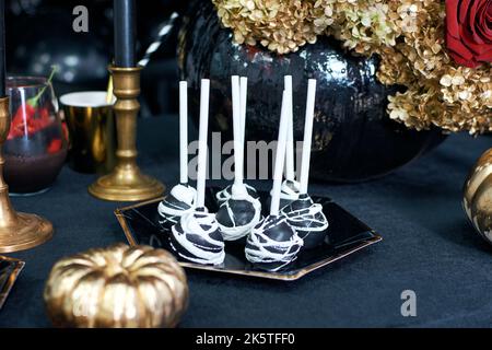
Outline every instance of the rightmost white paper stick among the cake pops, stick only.
[[307, 84], [306, 120], [304, 122], [303, 159], [301, 164], [301, 194], [307, 194], [309, 179], [311, 144], [313, 138], [313, 120], [316, 97], [316, 80], [309, 79]]

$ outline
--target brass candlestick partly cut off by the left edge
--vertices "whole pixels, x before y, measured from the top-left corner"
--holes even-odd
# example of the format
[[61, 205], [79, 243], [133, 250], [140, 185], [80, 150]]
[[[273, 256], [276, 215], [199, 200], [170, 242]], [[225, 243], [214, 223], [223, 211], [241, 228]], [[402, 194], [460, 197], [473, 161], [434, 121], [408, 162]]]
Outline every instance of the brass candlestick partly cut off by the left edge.
[[0, 253], [28, 249], [52, 236], [52, 225], [35, 214], [16, 212], [10, 202], [9, 186], [3, 179], [5, 160], [1, 145], [10, 130], [9, 97], [0, 98]]

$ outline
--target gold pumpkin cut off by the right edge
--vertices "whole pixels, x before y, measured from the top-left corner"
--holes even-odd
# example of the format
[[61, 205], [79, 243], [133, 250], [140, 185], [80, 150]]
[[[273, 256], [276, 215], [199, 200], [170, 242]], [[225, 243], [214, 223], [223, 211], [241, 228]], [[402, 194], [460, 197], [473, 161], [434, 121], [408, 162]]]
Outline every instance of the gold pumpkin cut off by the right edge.
[[477, 232], [492, 244], [492, 149], [482, 154], [468, 175], [462, 207]]

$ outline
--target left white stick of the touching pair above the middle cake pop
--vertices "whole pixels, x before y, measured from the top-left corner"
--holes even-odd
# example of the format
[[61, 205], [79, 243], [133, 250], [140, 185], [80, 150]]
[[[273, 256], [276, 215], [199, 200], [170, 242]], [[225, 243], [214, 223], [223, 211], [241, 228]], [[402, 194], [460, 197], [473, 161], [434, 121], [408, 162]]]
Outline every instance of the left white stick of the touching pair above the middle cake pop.
[[239, 77], [231, 77], [234, 131], [234, 184], [243, 185], [243, 126]]

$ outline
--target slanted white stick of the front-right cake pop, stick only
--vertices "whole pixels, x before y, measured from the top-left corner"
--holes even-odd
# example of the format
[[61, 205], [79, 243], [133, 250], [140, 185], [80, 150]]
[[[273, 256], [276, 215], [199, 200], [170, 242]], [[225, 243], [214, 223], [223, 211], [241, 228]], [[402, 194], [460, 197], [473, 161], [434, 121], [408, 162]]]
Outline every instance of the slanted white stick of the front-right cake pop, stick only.
[[285, 161], [285, 144], [288, 138], [289, 114], [286, 91], [282, 95], [282, 108], [280, 114], [279, 138], [277, 140], [276, 165], [273, 170], [273, 188], [271, 190], [270, 215], [279, 214], [280, 190], [282, 187], [283, 165]]

